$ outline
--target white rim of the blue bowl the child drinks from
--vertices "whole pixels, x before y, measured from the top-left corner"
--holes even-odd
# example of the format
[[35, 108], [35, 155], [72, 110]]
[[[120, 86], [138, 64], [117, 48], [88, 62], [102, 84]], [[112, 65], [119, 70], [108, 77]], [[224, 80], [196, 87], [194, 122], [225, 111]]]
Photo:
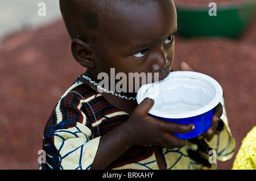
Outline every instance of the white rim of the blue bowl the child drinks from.
[[166, 113], [163, 111], [156, 110], [154, 107], [152, 107], [148, 113], [154, 116], [163, 117], [167, 119], [183, 119], [188, 117], [199, 116], [205, 112], [208, 112], [212, 110], [214, 107], [216, 107], [218, 103], [221, 102], [221, 99], [223, 96], [222, 87], [215, 79], [213, 79], [212, 77], [209, 77], [209, 75], [198, 73], [195, 71], [171, 71], [170, 74], [162, 81], [141, 86], [137, 93], [138, 104], [141, 103], [144, 98], [146, 98], [145, 95], [148, 90], [156, 86], [158, 83], [160, 84], [161, 82], [168, 81], [174, 78], [192, 78], [192, 79], [197, 79], [199, 81], [201, 79], [202, 82], [203, 80], [209, 81], [209, 86], [211, 86], [216, 91], [216, 95], [214, 96], [214, 99], [210, 103], [194, 111], [188, 111], [183, 113]]

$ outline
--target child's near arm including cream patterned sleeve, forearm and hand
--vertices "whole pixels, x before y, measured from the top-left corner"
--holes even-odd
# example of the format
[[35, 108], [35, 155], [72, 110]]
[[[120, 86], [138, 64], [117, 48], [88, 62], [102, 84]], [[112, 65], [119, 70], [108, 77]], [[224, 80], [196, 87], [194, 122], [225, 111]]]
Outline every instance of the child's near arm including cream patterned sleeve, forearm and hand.
[[[61, 103], [66, 105], [67, 100], [69, 98], [62, 100]], [[46, 151], [46, 163], [40, 168], [105, 169], [133, 144], [163, 145], [166, 148], [183, 147], [185, 140], [178, 139], [170, 132], [189, 132], [193, 125], [168, 123], [148, 116], [147, 112], [153, 104], [151, 99], [145, 99], [135, 108], [129, 120], [102, 137], [94, 138], [92, 131], [84, 124], [85, 120], [57, 120], [57, 123], [47, 128], [44, 134], [43, 149]], [[68, 115], [76, 115], [82, 119], [81, 111], [76, 106], [72, 107], [72, 112]], [[53, 112], [53, 115], [55, 113]], [[56, 120], [50, 119], [49, 122], [53, 121]]]

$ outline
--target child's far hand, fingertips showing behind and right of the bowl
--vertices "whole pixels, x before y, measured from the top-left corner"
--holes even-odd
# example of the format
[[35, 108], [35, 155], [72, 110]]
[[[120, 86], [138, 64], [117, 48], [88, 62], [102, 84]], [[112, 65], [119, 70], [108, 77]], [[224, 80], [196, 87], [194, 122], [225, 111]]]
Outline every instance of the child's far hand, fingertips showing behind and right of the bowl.
[[[191, 69], [191, 67], [185, 63], [185, 62], [181, 62], [180, 63], [180, 70], [183, 71], [193, 71]], [[201, 139], [202, 137], [205, 136], [205, 134], [208, 134], [209, 136], [211, 136], [214, 132], [214, 130], [218, 127], [218, 119], [220, 119], [221, 115], [222, 115], [222, 105], [221, 103], [219, 103], [213, 110], [213, 116], [212, 116], [212, 125], [210, 126], [210, 128], [207, 130], [207, 132], [200, 134], [199, 136], [197, 136], [197, 139]]]

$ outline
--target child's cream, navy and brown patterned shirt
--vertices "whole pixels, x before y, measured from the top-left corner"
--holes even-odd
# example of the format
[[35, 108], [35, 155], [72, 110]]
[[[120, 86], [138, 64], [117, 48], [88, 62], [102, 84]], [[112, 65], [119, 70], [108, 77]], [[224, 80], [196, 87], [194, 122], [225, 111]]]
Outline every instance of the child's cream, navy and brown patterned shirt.
[[[125, 123], [129, 116], [78, 78], [61, 96], [47, 121], [43, 137], [46, 161], [39, 169], [90, 169], [101, 136]], [[216, 159], [230, 159], [235, 142], [225, 107], [221, 120], [210, 141], [193, 138], [183, 148], [162, 147], [167, 169], [216, 169]], [[106, 169], [159, 168], [151, 145], [133, 145]]]

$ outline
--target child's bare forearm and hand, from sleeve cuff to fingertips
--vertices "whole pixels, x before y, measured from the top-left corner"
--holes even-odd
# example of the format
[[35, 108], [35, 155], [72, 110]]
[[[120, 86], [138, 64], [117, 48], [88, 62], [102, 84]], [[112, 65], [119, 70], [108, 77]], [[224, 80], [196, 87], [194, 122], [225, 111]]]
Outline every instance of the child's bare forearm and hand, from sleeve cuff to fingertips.
[[100, 144], [91, 169], [105, 169], [132, 145], [162, 145], [166, 148], [181, 148], [186, 141], [172, 133], [187, 133], [194, 125], [181, 125], [156, 119], [147, 113], [153, 106], [152, 99], [144, 99], [131, 114], [129, 120], [100, 139]]

